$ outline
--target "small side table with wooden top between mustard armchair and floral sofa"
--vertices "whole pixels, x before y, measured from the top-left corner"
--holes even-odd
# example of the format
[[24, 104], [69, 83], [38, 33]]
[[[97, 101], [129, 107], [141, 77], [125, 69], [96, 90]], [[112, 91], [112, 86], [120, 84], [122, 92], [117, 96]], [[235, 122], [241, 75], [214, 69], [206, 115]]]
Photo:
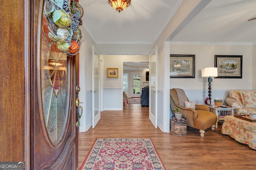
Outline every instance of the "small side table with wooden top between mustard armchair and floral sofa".
[[[218, 122], [220, 121], [220, 115], [221, 116], [227, 116], [227, 115], [232, 115], [234, 116], [234, 109], [235, 107], [220, 107], [220, 106], [208, 106], [210, 111], [212, 113], [215, 113], [217, 118], [216, 125], [215, 127], [218, 128]], [[224, 121], [224, 120], [221, 120]]]

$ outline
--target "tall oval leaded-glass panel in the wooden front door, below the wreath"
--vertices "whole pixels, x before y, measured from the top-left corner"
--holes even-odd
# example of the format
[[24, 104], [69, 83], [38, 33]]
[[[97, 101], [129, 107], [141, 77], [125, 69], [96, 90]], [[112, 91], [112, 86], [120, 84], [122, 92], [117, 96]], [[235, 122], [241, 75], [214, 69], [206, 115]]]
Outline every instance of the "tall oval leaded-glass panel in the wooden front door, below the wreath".
[[49, 29], [46, 17], [42, 20], [41, 42], [41, 94], [45, 128], [50, 141], [58, 143], [64, 132], [70, 96], [69, 57], [47, 37]]

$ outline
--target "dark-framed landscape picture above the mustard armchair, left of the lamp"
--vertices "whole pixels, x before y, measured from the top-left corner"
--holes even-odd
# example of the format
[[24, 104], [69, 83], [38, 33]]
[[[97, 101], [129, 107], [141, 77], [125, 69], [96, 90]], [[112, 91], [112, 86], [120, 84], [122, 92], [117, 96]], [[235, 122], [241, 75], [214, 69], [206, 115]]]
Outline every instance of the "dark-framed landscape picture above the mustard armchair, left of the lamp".
[[170, 55], [170, 78], [195, 78], [195, 55]]

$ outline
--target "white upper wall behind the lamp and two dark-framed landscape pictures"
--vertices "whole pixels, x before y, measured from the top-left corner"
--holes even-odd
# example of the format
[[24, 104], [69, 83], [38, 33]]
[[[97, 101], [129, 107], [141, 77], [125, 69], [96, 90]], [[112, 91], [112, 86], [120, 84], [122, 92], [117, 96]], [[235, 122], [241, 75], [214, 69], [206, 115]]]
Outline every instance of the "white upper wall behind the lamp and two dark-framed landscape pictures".
[[213, 78], [213, 90], [252, 88], [251, 45], [170, 45], [170, 54], [195, 55], [195, 78], [170, 78], [170, 88], [208, 90], [201, 68], [214, 67], [214, 55], [242, 55], [242, 78]]

